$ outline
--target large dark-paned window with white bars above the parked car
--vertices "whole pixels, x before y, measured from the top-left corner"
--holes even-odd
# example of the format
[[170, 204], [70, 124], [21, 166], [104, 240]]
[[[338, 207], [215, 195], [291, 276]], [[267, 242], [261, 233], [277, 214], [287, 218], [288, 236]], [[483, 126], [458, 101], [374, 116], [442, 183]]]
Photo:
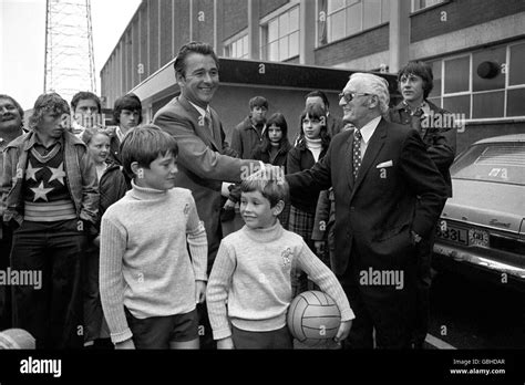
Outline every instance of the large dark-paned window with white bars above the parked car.
[[[430, 62], [434, 87], [429, 101], [472, 119], [524, 117], [524, 62], [525, 42]], [[494, 69], [490, 75], [478, 71], [487, 63]]]

